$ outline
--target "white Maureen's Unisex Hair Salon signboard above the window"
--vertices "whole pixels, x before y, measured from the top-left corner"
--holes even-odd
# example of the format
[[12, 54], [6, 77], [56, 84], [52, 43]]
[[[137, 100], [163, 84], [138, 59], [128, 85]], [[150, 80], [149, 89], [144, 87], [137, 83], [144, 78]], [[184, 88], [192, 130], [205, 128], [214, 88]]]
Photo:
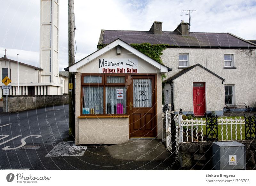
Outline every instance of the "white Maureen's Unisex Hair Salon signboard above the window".
[[100, 58], [99, 73], [124, 74], [138, 73], [138, 59], [132, 58]]

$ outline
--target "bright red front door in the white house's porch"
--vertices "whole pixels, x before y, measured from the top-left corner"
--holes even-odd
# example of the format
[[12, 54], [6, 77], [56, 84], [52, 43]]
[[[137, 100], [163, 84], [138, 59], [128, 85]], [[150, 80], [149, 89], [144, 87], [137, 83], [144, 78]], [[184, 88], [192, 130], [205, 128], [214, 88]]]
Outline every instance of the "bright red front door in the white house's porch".
[[203, 116], [205, 114], [205, 89], [204, 83], [193, 83], [193, 100], [195, 116]]

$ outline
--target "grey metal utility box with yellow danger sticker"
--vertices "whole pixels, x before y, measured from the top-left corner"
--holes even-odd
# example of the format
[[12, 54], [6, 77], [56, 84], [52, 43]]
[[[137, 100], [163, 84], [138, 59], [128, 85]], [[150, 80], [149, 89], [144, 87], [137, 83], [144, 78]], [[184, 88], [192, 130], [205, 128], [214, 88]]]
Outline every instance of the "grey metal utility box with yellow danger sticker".
[[245, 145], [239, 142], [214, 142], [212, 167], [215, 170], [245, 170]]

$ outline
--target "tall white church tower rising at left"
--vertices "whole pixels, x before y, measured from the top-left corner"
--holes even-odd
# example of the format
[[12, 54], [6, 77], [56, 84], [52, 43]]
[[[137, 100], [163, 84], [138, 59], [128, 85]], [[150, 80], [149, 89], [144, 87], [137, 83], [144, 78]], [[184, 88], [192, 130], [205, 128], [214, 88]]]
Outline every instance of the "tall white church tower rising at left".
[[58, 95], [59, 86], [59, 1], [40, 0], [39, 82], [48, 86], [49, 95]]

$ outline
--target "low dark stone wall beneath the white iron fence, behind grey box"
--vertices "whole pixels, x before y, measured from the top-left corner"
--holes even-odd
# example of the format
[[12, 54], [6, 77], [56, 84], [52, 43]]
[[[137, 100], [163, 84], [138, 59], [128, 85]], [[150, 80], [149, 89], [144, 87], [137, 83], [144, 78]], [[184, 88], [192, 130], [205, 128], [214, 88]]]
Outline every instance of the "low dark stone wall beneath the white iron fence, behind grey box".
[[[246, 170], [256, 170], [256, 140], [238, 141], [245, 145]], [[181, 169], [212, 170], [212, 143], [191, 142], [180, 144]]]

